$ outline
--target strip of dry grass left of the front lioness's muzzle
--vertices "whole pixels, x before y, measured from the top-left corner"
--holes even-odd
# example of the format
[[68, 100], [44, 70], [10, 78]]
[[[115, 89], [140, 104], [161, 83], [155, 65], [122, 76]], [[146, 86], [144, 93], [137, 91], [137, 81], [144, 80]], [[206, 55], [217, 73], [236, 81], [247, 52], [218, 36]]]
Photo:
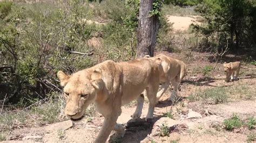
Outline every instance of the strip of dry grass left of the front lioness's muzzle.
[[0, 130], [10, 132], [16, 128], [41, 126], [65, 120], [64, 100], [50, 99], [31, 106], [31, 109], [4, 111], [0, 116]]

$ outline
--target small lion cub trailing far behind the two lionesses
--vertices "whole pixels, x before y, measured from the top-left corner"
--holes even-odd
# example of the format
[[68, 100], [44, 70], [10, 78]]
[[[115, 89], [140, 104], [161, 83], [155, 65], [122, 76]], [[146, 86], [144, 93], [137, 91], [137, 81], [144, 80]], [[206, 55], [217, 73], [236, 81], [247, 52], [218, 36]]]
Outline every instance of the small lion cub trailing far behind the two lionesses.
[[238, 78], [239, 70], [241, 67], [240, 62], [230, 62], [230, 63], [224, 62], [223, 66], [224, 66], [224, 71], [226, 73], [225, 82], [230, 81], [230, 76], [231, 76], [231, 80], [233, 81], [235, 71], [237, 71], [237, 75], [235, 78], [236, 79]]

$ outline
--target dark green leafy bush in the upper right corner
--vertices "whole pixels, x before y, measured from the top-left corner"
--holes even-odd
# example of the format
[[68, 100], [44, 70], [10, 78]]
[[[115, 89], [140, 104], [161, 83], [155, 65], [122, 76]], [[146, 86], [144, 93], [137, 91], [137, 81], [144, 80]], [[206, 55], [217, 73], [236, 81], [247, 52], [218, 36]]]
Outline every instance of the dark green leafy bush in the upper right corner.
[[226, 46], [234, 51], [253, 48], [255, 44], [255, 6], [247, 0], [204, 0], [195, 9], [206, 19], [207, 26], [194, 25], [204, 37], [208, 51], [220, 53]]

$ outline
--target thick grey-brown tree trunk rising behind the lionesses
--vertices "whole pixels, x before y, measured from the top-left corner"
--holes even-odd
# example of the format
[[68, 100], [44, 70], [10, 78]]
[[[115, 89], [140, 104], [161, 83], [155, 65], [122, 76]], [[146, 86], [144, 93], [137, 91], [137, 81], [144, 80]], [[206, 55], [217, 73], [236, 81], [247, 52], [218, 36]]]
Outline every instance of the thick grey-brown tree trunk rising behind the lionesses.
[[145, 55], [154, 56], [159, 19], [157, 16], [149, 17], [150, 11], [153, 9], [153, 1], [140, 0], [137, 58], [142, 58]]

